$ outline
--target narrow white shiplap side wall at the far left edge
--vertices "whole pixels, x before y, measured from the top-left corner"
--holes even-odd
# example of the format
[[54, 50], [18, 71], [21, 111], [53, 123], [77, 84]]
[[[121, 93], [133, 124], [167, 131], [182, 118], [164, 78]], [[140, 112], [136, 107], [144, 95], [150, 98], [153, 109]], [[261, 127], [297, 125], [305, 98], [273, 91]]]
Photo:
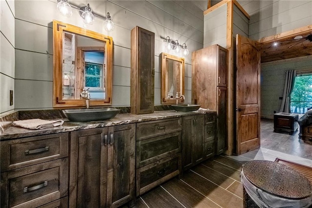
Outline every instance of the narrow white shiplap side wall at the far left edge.
[[15, 20], [14, 0], [0, 0], [0, 113], [10, 113], [10, 90], [15, 77]]

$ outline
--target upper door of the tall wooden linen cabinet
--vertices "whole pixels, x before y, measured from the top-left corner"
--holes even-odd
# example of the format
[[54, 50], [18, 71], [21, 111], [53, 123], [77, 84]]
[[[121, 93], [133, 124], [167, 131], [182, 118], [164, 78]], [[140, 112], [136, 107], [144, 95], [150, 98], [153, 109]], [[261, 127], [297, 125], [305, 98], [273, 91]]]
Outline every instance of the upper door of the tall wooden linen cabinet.
[[227, 49], [217, 45], [217, 86], [227, 86]]

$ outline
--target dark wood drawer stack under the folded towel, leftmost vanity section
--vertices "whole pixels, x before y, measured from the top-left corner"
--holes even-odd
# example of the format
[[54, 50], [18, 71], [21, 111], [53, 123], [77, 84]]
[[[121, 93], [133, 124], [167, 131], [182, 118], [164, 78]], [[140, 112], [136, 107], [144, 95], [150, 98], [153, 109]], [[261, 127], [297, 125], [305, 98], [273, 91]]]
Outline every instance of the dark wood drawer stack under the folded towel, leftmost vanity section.
[[1, 141], [1, 208], [67, 207], [69, 133]]

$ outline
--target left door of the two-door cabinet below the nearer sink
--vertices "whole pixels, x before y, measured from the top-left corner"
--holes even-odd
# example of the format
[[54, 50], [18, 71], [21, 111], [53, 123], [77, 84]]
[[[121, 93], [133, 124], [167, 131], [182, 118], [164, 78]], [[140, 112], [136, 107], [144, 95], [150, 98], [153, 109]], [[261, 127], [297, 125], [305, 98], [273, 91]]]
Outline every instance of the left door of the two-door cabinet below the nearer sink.
[[69, 207], [106, 206], [108, 128], [71, 132]]

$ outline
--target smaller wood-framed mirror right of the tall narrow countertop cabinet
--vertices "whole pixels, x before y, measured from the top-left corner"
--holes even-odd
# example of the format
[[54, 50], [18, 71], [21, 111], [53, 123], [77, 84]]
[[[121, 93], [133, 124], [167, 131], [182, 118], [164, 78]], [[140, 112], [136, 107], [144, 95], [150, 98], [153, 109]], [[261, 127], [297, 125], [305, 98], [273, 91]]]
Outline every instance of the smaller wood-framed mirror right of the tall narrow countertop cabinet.
[[184, 59], [161, 53], [161, 103], [176, 104], [177, 92], [184, 95]]

